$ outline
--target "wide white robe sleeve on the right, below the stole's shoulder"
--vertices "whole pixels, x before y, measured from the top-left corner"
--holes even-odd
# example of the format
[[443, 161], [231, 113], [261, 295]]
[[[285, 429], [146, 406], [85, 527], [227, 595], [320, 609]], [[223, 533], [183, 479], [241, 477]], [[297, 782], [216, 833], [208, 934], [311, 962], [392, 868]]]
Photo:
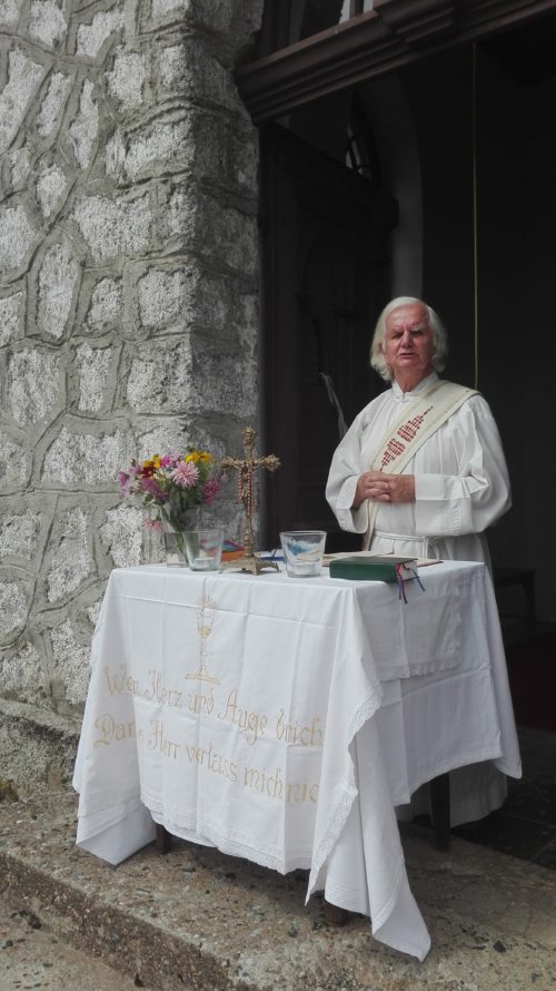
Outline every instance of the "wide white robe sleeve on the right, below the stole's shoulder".
[[483, 396], [464, 403], [417, 452], [414, 472], [416, 531], [425, 537], [480, 533], [512, 506], [500, 436]]

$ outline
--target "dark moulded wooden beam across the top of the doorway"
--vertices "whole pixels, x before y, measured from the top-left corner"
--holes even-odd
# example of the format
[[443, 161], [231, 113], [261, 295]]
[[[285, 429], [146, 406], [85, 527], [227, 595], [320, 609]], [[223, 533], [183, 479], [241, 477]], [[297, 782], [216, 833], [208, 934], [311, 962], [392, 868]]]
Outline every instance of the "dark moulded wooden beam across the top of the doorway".
[[375, 0], [368, 13], [242, 66], [236, 81], [254, 121], [261, 124], [550, 11], [556, 0]]

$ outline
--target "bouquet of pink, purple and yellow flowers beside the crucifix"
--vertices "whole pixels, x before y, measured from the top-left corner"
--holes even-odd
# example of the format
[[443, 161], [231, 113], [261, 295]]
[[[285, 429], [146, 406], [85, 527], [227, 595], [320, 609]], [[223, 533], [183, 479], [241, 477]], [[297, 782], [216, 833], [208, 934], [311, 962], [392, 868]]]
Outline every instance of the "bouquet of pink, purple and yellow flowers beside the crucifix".
[[208, 451], [188, 448], [183, 454], [133, 460], [128, 471], [118, 472], [118, 484], [122, 498], [139, 496], [146, 508], [158, 507], [155, 526], [166, 522], [179, 531], [187, 529], [191, 509], [214, 502], [220, 475]]

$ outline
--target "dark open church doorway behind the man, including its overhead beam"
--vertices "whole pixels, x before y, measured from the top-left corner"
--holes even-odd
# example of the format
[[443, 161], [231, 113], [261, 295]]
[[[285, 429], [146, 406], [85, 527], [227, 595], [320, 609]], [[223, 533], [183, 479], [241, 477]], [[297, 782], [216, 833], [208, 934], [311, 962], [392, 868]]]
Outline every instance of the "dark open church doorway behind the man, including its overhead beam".
[[[514, 506], [494, 562], [534, 571], [536, 620], [555, 624], [556, 530], [530, 521], [554, 487], [556, 0], [415, 7], [266, 4], [237, 73], [261, 133], [264, 443], [284, 464], [261, 541], [305, 526], [345, 539], [324, 498], [338, 405], [349, 423], [383, 387], [367, 357], [383, 304], [421, 296], [448, 330], [448, 377], [485, 394], [503, 438]], [[346, 165], [354, 101], [367, 176]], [[500, 605], [526, 618], [518, 585]]]

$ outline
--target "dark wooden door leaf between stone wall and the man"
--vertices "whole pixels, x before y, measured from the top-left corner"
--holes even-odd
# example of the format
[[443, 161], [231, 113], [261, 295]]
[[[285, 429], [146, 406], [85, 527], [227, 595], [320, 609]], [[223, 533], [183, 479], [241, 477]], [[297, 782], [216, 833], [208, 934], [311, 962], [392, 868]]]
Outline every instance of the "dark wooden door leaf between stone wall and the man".
[[281, 468], [267, 483], [267, 546], [285, 529], [340, 536], [325, 499], [339, 441], [331, 389], [349, 425], [380, 390], [370, 333], [387, 302], [387, 194], [278, 126], [261, 134], [265, 447]]

